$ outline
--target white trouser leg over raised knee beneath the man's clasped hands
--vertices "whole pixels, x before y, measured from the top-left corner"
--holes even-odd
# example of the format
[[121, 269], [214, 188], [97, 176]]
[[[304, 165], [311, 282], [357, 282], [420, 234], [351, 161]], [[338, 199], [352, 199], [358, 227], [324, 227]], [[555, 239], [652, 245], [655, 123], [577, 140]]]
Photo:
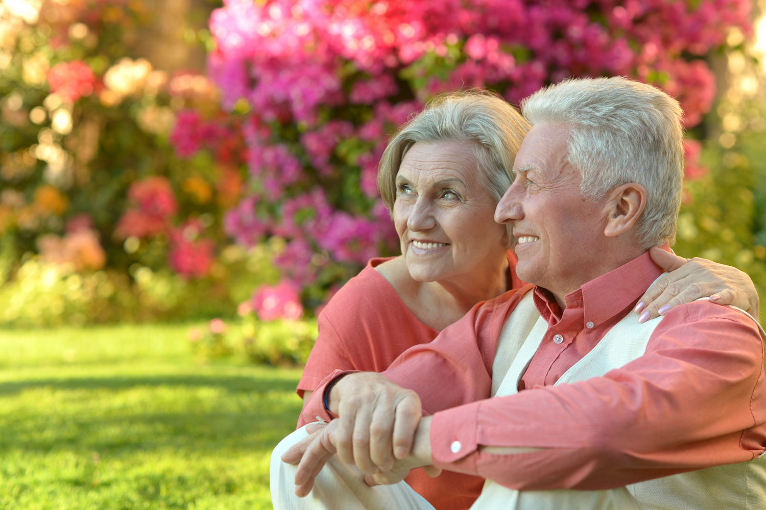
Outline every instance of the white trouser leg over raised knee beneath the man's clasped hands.
[[297, 465], [280, 459], [286, 450], [306, 437], [306, 427], [285, 437], [271, 453], [270, 487], [274, 510], [434, 510], [423, 496], [405, 482], [370, 487], [356, 466], [337, 456], [322, 468], [305, 498], [295, 495]]

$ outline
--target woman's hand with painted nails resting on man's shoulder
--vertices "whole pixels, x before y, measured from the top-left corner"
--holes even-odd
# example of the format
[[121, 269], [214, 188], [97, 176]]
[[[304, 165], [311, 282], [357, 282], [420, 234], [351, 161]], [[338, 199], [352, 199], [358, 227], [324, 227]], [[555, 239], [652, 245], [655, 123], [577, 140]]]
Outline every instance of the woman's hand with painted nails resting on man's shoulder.
[[758, 292], [744, 272], [705, 258], [679, 257], [660, 248], [649, 252], [654, 263], [669, 273], [641, 296], [634, 310], [640, 313], [639, 322], [665, 315], [676, 305], [700, 297], [710, 297], [716, 304], [731, 304], [758, 319]]

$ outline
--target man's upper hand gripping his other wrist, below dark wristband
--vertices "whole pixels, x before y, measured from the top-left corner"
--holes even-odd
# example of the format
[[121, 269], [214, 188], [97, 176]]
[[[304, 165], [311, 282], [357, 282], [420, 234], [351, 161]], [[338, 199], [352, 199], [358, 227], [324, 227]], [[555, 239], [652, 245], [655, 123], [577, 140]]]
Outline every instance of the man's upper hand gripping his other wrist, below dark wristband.
[[422, 416], [414, 391], [378, 373], [360, 372], [342, 378], [328, 400], [330, 411], [339, 416], [334, 446], [343, 462], [377, 473], [410, 454]]

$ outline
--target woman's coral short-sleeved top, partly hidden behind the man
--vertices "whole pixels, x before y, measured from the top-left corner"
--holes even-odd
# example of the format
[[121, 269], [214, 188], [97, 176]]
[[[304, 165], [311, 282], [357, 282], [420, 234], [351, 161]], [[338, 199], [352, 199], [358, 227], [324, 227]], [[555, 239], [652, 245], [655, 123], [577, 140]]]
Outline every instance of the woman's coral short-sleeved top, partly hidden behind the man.
[[[405, 350], [437, 337], [439, 331], [418, 320], [375, 270], [388, 260], [372, 258], [319, 313], [319, 336], [298, 383], [298, 395], [315, 390], [335, 369], [383, 372]], [[524, 282], [514, 270], [516, 254], [510, 251], [509, 267], [513, 287], [521, 287]], [[413, 469], [406, 481], [439, 510], [470, 507], [484, 483], [476, 476], [447, 471], [431, 478], [423, 469]]]

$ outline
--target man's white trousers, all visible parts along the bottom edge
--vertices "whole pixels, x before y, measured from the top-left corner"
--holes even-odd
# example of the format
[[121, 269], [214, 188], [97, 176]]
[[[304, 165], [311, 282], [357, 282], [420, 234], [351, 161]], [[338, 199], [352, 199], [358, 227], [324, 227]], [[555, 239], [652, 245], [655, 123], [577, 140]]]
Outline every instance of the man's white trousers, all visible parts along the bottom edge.
[[[271, 501], [275, 510], [434, 510], [405, 482], [370, 487], [355, 466], [333, 456], [305, 498], [295, 495], [297, 466], [283, 463], [283, 453], [306, 437], [306, 427], [285, 437], [271, 453]], [[629, 510], [640, 508], [625, 488], [604, 491], [549, 490], [519, 492], [487, 483], [471, 510]]]

